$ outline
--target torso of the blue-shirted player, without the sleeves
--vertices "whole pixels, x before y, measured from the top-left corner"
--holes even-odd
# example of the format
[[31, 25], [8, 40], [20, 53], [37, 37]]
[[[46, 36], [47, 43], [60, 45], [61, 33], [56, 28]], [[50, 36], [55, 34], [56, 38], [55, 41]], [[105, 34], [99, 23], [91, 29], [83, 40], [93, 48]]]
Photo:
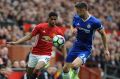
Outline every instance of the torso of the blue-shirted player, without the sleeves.
[[81, 18], [77, 18], [75, 21], [75, 25], [77, 28], [77, 42], [79, 42], [77, 44], [82, 45], [81, 47], [91, 47], [92, 39], [95, 32], [94, 18], [92, 16], [89, 16], [89, 18], [85, 21]]

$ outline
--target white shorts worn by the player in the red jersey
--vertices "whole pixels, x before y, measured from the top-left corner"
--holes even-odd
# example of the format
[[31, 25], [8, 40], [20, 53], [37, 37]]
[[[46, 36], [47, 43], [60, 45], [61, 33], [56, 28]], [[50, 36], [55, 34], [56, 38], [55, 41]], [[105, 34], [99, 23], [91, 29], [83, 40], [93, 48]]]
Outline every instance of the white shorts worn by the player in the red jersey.
[[45, 64], [47, 64], [50, 60], [51, 56], [48, 55], [34, 55], [30, 54], [29, 55], [29, 60], [28, 60], [28, 67], [35, 67], [38, 62], [43, 61]]

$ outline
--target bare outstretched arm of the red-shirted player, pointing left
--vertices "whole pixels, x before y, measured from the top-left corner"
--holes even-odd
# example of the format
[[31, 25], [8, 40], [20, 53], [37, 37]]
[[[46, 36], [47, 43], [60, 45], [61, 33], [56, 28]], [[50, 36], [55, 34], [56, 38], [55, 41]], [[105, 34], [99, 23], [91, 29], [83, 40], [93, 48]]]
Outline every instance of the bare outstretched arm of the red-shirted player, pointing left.
[[25, 42], [27, 40], [30, 40], [31, 38], [32, 38], [32, 34], [30, 33], [30, 34], [22, 37], [21, 39], [15, 41], [15, 42], [7, 42], [7, 44], [16, 45], [16, 44], [23, 43], [23, 42]]

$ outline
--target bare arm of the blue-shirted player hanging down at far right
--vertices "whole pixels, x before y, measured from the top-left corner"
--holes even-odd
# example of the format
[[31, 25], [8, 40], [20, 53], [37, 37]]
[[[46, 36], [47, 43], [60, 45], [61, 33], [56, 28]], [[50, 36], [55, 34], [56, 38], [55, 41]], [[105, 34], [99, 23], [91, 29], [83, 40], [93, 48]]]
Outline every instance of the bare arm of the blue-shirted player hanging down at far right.
[[107, 36], [105, 33], [104, 29], [98, 30], [98, 32], [100, 33], [101, 37], [102, 37], [102, 41], [103, 41], [103, 45], [104, 45], [104, 49], [105, 49], [105, 54], [109, 56], [109, 51], [108, 51], [108, 44], [107, 44]]

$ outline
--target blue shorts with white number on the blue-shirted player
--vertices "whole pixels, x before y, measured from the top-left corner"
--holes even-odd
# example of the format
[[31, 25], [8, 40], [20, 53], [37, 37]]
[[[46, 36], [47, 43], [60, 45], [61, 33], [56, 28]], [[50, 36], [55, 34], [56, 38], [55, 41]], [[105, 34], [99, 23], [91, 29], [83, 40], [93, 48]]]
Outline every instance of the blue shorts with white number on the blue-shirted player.
[[72, 63], [77, 57], [79, 57], [82, 59], [84, 64], [91, 54], [91, 49], [91, 46], [75, 41], [72, 48], [68, 52], [66, 62]]

